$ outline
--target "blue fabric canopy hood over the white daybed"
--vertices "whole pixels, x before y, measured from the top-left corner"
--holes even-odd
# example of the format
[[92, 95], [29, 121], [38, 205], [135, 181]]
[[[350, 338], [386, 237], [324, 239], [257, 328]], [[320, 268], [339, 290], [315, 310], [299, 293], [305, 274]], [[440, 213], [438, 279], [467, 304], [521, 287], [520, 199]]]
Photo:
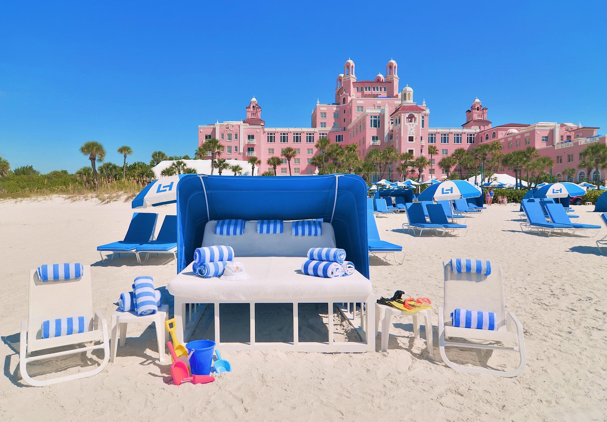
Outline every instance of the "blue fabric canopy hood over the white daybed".
[[177, 185], [177, 271], [192, 262], [209, 220], [324, 219], [333, 226], [337, 247], [344, 249], [356, 270], [368, 278], [366, 200], [367, 184], [354, 174], [188, 174]]

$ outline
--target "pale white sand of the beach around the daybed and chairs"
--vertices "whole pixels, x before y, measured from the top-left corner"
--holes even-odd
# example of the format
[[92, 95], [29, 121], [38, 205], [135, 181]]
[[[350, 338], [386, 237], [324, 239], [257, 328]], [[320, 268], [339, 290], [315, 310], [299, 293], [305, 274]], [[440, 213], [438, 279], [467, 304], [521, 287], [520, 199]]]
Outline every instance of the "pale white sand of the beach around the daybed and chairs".
[[[576, 206], [578, 222], [601, 224], [592, 209]], [[153, 211], [174, 210], [164, 206]], [[143, 265], [134, 256], [100, 262], [97, 245], [124, 237], [130, 203], [63, 197], [2, 202], [0, 420], [607, 420], [607, 257], [595, 246], [607, 229], [596, 238], [546, 238], [521, 233], [515, 211], [518, 204], [493, 205], [467, 218], [466, 237], [414, 237], [401, 230], [404, 214], [378, 218], [382, 239], [403, 245], [407, 257], [403, 265], [371, 257], [373, 291], [378, 298], [404, 290], [432, 299], [433, 358], [426, 353], [425, 332], [414, 340], [411, 319], [403, 316], [393, 319], [386, 353], [379, 352], [379, 336], [375, 353], [225, 352], [233, 372], [217, 375], [212, 384], [174, 386], [169, 366], [158, 364], [154, 327], [130, 324], [126, 345], [100, 374], [30, 387], [18, 367], [30, 268], [50, 262], [92, 265], [93, 308], [109, 324], [118, 295], [130, 290], [134, 277], [153, 276], [156, 287], [163, 287], [177, 266], [168, 256]], [[527, 366], [515, 378], [453, 370], [440, 358], [436, 308], [443, 303], [441, 262], [462, 256], [503, 267], [506, 310], [522, 322], [527, 349]], [[163, 299], [172, 314], [166, 290]], [[282, 311], [272, 319], [282, 316], [288, 324]], [[238, 330], [237, 322], [232, 327]], [[201, 331], [194, 338], [212, 338], [212, 328]], [[314, 335], [313, 328], [309, 334]], [[514, 354], [447, 353], [461, 364], [504, 369], [503, 362], [510, 368], [517, 363]], [[64, 356], [29, 367], [41, 376], [59, 367], [73, 373], [98, 362], [100, 355]]]

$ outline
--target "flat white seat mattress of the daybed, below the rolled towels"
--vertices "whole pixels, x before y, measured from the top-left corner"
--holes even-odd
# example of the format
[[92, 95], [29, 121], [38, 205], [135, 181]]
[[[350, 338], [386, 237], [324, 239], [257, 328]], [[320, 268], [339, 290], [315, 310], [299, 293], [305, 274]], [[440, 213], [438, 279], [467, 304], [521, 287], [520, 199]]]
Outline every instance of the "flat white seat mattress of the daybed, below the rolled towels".
[[371, 282], [358, 271], [346, 277], [322, 278], [301, 272], [305, 257], [237, 257], [249, 279], [226, 281], [205, 279], [188, 265], [167, 288], [173, 296], [196, 299], [198, 303], [285, 299], [325, 299], [371, 294]]

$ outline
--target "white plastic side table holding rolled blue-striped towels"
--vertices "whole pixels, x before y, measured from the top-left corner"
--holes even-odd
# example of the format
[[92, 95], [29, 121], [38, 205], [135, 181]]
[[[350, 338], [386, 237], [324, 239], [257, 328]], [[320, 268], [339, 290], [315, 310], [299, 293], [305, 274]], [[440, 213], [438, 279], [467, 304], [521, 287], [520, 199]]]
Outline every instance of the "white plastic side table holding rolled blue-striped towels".
[[164, 321], [169, 319], [169, 305], [161, 305], [156, 313], [152, 315], [137, 315], [135, 311], [121, 312], [115, 310], [112, 314], [112, 350], [110, 353], [110, 362], [114, 363], [116, 357], [116, 350], [118, 347], [118, 328], [120, 328], [120, 345], [123, 346], [126, 343], [126, 324], [129, 322], [154, 322], [156, 325], [156, 339], [158, 340], [158, 355], [160, 356], [158, 361], [161, 365], [168, 365], [171, 363], [170, 359], [167, 358], [164, 353], [164, 347], [166, 345], [166, 328], [164, 328]]

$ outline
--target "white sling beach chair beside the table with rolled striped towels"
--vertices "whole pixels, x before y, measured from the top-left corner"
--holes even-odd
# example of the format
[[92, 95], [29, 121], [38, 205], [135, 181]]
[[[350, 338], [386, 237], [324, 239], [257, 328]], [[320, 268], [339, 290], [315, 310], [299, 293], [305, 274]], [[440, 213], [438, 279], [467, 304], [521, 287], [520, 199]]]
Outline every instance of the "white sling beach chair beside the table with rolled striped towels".
[[[93, 298], [90, 282], [90, 266], [84, 265], [83, 275], [79, 279], [42, 282], [36, 270], [30, 270], [29, 312], [27, 320], [21, 322], [21, 340], [19, 344], [19, 373], [30, 386], [40, 387], [48, 384], [85, 378], [100, 373], [110, 358], [107, 324], [100, 312], [93, 313]], [[84, 316], [88, 331], [84, 333], [42, 338], [43, 321], [70, 316]], [[86, 345], [84, 343], [101, 342]], [[55, 349], [73, 345], [75, 349], [45, 353], [28, 357], [32, 352]], [[73, 353], [103, 349], [103, 361], [93, 370], [52, 379], [36, 380], [27, 373], [27, 363], [41, 359], [51, 359]]]

